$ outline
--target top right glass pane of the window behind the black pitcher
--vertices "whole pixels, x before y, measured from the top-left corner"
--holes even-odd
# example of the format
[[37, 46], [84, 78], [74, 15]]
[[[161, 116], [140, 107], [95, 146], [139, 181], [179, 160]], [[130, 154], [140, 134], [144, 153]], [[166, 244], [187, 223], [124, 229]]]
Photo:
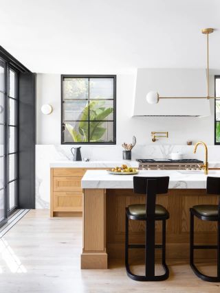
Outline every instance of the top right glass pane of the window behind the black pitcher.
[[113, 99], [113, 78], [90, 78], [89, 99]]

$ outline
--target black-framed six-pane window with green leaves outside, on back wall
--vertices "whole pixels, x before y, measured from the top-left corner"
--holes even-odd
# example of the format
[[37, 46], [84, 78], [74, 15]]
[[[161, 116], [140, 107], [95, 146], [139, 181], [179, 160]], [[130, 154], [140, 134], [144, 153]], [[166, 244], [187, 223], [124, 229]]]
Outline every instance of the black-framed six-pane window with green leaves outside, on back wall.
[[116, 75], [61, 75], [61, 143], [116, 143]]

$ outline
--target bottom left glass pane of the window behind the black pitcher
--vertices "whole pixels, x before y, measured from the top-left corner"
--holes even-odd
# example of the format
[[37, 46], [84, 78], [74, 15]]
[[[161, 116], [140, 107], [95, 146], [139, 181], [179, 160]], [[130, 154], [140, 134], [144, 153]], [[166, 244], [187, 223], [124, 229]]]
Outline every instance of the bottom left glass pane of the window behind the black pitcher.
[[66, 122], [64, 130], [64, 142], [88, 142], [89, 122]]

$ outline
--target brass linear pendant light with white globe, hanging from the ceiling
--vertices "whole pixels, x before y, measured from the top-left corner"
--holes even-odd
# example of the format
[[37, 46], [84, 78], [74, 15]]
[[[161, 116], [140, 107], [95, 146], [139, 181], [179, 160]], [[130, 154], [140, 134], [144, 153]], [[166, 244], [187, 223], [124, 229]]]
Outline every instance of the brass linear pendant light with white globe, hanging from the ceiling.
[[146, 102], [148, 104], [157, 104], [159, 102], [159, 99], [214, 99], [214, 97], [210, 97], [209, 93], [209, 47], [208, 47], [208, 36], [209, 34], [212, 34], [214, 32], [214, 29], [212, 28], [206, 28], [201, 30], [202, 34], [206, 34], [207, 36], [207, 69], [206, 69], [206, 82], [207, 82], [207, 95], [206, 97], [159, 97], [159, 93], [156, 91], [150, 91], [146, 95]]

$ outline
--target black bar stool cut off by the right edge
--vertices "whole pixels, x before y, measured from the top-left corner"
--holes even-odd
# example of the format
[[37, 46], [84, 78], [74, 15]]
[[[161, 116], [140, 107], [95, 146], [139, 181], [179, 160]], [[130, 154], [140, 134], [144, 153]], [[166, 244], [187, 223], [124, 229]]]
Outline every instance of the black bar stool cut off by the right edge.
[[[207, 194], [220, 195], [220, 178], [207, 177]], [[195, 245], [194, 244], [194, 216], [204, 221], [217, 222], [217, 245]], [[220, 201], [219, 204], [200, 204], [190, 209], [190, 267], [195, 274], [209, 282], [220, 281]], [[194, 249], [217, 249], [217, 277], [210, 277], [199, 272], [194, 263]]]

